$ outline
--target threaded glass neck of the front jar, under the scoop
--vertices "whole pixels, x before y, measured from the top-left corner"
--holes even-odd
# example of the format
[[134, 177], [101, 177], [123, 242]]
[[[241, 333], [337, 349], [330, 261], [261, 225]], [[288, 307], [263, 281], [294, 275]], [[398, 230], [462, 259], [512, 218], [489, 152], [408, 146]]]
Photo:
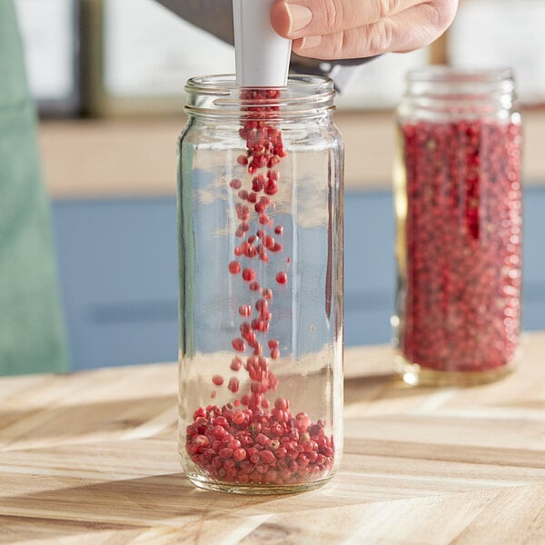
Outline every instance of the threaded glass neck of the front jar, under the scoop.
[[206, 75], [189, 79], [184, 89], [184, 111], [194, 117], [299, 121], [335, 109], [332, 80], [321, 76], [293, 75], [285, 87], [253, 89], [237, 85], [233, 74]]

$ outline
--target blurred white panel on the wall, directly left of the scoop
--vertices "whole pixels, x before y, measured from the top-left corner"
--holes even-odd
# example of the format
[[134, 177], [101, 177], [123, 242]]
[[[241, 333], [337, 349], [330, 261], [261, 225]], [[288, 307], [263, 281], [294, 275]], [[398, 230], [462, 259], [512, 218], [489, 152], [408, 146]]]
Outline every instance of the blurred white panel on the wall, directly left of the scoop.
[[104, 0], [104, 87], [117, 97], [183, 93], [189, 77], [233, 74], [234, 49], [153, 0]]

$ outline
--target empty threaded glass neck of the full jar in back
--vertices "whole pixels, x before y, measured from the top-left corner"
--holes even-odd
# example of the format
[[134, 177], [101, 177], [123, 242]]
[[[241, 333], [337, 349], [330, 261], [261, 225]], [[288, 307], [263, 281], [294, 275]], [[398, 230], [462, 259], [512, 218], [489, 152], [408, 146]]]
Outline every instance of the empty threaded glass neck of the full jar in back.
[[407, 74], [401, 110], [434, 114], [498, 115], [514, 108], [515, 82], [508, 68], [497, 70], [428, 66]]

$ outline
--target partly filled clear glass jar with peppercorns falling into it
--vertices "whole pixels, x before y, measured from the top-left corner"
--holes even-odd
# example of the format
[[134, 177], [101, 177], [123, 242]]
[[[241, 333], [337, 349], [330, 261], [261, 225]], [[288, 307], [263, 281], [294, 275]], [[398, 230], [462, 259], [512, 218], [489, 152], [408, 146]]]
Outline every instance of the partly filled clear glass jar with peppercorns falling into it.
[[179, 453], [198, 487], [328, 481], [342, 453], [342, 139], [332, 82], [193, 78], [179, 141]]

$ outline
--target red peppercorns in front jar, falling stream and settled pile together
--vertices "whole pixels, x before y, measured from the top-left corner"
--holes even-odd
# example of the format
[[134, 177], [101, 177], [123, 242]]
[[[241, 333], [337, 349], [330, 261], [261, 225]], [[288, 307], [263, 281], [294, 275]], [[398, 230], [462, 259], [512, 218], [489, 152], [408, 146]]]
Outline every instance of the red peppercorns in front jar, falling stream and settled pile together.
[[[311, 421], [305, 412], [293, 416], [286, 399], [277, 398], [271, 407], [267, 395], [278, 387], [271, 362], [281, 356], [280, 342], [269, 338], [272, 288], [263, 286], [265, 269], [252, 263], [259, 261], [271, 266], [270, 254], [282, 253], [278, 238], [282, 237], [283, 227], [274, 225], [270, 215], [280, 181], [275, 166], [286, 155], [282, 132], [272, 124], [278, 110], [272, 103], [279, 97], [277, 90], [243, 90], [243, 104], [245, 101], [253, 105], [243, 107], [251, 114], [240, 130], [246, 153], [239, 155], [237, 163], [249, 175], [229, 181], [237, 199], [234, 212], [238, 225], [234, 236], [240, 243], [235, 246], [227, 269], [247, 285], [249, 292], [248, 300], [238, 306], [241, 322], [239, 334], [231, 342], [235, 354], [230, 369], [247, 373], [249, 390], [223, 407], [200, 407], [186, 430], [188, 455], [200, 471], [216, 481], [299, 484], [324, 478], [333, 465], [333, 439], [325, 435], [324, 422]], [[289, 258], [286, 263], [290, 263]], [[263, 272], [263, 278], [258, 278], [258, 272]], [[279, 286], [287, 284], [286, 271], [276, 270], [272, 274]], [[268, 356], [264, 354], [266, 350]], [[243, 359], [244, 352], [247, 355]], [[223, 377], [213, 375], [212, 383], [223, 386]], [[227, 389], [239, 392], [239, 379], [230, 378]], [[215, 395], [216, 391], [212, 391], [211, 397]]]

